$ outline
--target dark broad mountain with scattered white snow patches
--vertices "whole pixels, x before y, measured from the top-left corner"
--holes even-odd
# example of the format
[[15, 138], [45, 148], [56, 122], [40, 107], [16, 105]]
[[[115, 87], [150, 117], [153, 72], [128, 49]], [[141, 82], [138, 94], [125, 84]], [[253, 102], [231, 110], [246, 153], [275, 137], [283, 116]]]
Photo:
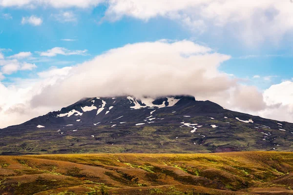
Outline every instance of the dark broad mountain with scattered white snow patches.
[[83, 98], [0, 130], [0, 153], [292, 151], [293, 124], [192, 96]]

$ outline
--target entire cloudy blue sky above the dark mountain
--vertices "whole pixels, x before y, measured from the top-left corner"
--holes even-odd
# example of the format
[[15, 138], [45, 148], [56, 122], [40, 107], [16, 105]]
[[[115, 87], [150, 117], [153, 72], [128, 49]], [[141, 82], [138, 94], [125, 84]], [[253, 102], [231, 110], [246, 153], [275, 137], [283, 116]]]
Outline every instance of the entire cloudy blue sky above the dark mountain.
[[84, 97], [293, 122], [292, 0], [0, 0], [0, 128]]

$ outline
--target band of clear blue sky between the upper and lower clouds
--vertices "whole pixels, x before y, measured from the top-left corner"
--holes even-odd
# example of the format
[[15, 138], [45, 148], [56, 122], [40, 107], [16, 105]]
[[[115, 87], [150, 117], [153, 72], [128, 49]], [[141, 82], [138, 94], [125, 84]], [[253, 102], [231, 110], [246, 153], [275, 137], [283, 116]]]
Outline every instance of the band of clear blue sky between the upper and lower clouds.
[[[87, 50], [86, 55], [57, 56], [49, 62], [36, 62], [38, 68], [33, 72], [48, 69], [50, 66], [64, 67], [92, 59], [109, 49], [122, 47], [128, 43], [155, 41], [159, 39], [182, 40], [189, 39], [205, 44], [219, 53], [227, 54], [232, 59], [224, 62], [220, 70], [233, 74], [238, 78], [251, 79], [254, 75], [271, 79], [251, 79], [249, 82], [266, 89], [272, 84], [292, 78], [292, 48], [285, 44], [291, 42], [284, 37], [280, 43], [262, 43], [256, 46], [247, 46], [242, 40], [234, 37], [214, 35], [211, 32], [198, 33], [188, 29], [180, 21], [164, 17], [155, 17], [149, 20], [138, 20], [123, 17], [121, 20], [109, 21], [103, 19], [107, 7], [102, 4], [89, 9], [55, 9], [39, 7], [36, 9], [20, 9], [8, 7], [0, 9], [0, 47], [11, 49], [3, 52], [10, 56], [19, 52], [32, 52], [38, 57], [37, 51], [46, 51], [54, 47], [63, 47], [69, 50]], [[56, 19], [54, 15], [70, 12], [74, 16], [70, 21]], [[3, 14], [9, 14], [5, 19]], [[37, 16], [42, 24], [34, 26], [21, 24], [22, 17]], [[57, 16], [58, 17], [58, 16]], [[224, 29], [225, 31], [225, 29]], [[73, 39], [74, 41], [63, 41]], [[267, 56], [272, 55], [272, 56]], [[250, 57], [251, 56], [251, 57]], [[32, 60], [33, 61], [33, 60]], [[11, 78], [32, 77], [28, 71], [6, 75], [3, 82]]]

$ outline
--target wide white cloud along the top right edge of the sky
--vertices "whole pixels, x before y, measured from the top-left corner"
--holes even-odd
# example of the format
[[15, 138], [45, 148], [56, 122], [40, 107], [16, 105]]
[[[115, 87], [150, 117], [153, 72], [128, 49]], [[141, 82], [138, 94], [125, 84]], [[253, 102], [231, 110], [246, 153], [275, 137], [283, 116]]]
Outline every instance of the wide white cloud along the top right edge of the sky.
[[289, 0], [109, 0], [106, 18], [164, 17], [190, 29], [228, 33], [249, 46], [277, 43], [293, 31], [293, 4]]

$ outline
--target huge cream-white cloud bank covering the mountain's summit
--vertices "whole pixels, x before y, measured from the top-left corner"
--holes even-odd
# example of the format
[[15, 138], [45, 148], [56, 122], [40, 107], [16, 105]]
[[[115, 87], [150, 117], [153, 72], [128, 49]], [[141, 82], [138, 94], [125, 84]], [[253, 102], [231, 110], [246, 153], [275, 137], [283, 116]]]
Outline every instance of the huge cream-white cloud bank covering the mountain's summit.
[[[221, 63], [230, 58], [188, 40], [127, 44], [73, 67], [52, 67], [34, 79], [20, 79], [9, 86], [0, 84], [0, 127], [59, 110], [80, 98], [126, 94], [189, 94], [262, 117], [276, 118], [272, 114], [276, 109], [290, 113], [292, 94], [286, 95], [288, 104], [280, 104], [283, 96], [279, 91], [288, 91], [293, 82], [272, 87], [263, 94], [219, 71]], [[274, 94], [280, 94], [275, 101], [264, 98]]]

